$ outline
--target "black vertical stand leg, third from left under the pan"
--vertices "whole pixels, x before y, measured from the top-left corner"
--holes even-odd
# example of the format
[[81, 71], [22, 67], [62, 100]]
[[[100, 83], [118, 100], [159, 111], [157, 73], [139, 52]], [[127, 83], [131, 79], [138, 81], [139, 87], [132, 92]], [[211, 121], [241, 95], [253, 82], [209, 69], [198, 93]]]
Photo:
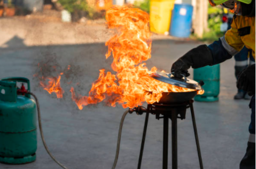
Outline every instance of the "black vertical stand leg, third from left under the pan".
[[171, 112], [172, 169], [178, 169], [177, 116], [176, 111]]

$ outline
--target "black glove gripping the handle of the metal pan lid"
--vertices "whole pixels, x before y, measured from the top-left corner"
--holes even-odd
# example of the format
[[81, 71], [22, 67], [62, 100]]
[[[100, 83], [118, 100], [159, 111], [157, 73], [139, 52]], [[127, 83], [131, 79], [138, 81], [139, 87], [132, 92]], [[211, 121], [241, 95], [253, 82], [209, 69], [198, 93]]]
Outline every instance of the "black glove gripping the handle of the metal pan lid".
[[207, 65], [212, 65], [212, 62], [211, 50], [206, 45], [200, 45], [191, 49], [174, 62], [171, 67], [171, 72], [177, 78], [182, 78], [181, 74], [187, 77], [190, 75], [188, 73], [190, 67], [194, 69], [201, 68]]

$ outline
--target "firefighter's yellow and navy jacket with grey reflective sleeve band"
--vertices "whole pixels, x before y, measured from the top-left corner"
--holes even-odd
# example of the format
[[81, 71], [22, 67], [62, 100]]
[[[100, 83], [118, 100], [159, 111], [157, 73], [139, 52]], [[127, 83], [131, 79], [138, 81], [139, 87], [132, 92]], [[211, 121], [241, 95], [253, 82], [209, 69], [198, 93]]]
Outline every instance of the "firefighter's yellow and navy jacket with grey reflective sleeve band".
[[243, 47], [252, 50], [255, 60], [255, 16], [234, 15], [231, 29], [219, 41], [213, 42], [208, 47], [213, 56], [212, 65], [224, 62], [236, 55]]

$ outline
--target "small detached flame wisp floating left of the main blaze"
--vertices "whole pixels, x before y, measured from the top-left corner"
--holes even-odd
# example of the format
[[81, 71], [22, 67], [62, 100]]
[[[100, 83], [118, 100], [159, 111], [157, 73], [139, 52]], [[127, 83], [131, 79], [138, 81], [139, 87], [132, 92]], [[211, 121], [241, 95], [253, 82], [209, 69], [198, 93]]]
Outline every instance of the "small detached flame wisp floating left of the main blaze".
[[44, 81], [40, 81], [40, 85], [46, 90], [49, 94], [56, 93], [57, 98], [62, 98], [64, 90], [61, 88], [61, 76], [58, 77], [42, 77], [43, 80], [48, 80], [48, 84], [45, 84]]

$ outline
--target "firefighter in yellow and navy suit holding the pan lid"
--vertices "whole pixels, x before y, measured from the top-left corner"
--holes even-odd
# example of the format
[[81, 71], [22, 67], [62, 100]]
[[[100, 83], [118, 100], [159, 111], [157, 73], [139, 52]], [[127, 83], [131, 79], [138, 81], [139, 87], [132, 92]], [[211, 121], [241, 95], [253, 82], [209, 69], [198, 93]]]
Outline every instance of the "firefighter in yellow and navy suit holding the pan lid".
[[[172, 64], [171, 72], [177, 78], [189, 76], [190, 67], [196, 69], [215, 65], [236, 55], [245, 46], [251, 50], [255, 60], [255, 0], [209, 0], [211, 6], [222, 5], [234, 15], [231, 29], [225, 36], [209, 46], [200, 45], [191, 49]], [[248, 66], [239, 75], [237, 87], [253, 95], [250, 103], [252, 110], [249, 126], [249, 141], [240, 169], [255, 169], [255, 64]]]

